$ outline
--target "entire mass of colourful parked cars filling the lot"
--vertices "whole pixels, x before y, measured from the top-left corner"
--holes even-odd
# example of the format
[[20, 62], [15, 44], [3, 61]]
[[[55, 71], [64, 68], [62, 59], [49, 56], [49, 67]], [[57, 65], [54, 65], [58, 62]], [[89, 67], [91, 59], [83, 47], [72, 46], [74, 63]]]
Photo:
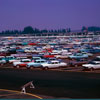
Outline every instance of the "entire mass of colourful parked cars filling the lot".
[[[90, 44], [93, 40], [86, 38], [3, 38], [0, 41], [0, 64], [11, 63], [14, 68], [48, 69], [68, 66], [89, 68], [91, 58], [100, 53], [100, 44]], [[92, 64], [95, 61], [93, 60]]]

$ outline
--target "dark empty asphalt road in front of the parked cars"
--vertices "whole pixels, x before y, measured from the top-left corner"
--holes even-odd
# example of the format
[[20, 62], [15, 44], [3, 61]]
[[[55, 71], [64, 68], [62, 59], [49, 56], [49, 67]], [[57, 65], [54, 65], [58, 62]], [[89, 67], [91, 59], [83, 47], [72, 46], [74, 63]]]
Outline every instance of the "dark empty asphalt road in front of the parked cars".
[[52, 70], [0, 69], [0, 89], [20, 91], [21, 86], [33, 81], [33, 94], [54, 98], [100, 98], [100, 73]]

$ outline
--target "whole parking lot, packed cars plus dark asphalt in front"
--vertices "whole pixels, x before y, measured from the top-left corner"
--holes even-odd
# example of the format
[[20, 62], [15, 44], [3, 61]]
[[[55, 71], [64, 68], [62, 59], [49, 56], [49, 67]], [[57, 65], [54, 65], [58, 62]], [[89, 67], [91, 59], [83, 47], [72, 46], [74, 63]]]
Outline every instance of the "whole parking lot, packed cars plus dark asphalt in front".
[[5, 96], [1, 91], [1, 98], [100, 98], [100, 69], [95, 66], [100, 64], [100, 49], [93, 39], [92, 43], [87, 38], [0, 41], [0, 89], [21, 91], [30, 81], [35, 86], [26, 87], [27, 93], [35, 97], [16, 97], [12, 93]]

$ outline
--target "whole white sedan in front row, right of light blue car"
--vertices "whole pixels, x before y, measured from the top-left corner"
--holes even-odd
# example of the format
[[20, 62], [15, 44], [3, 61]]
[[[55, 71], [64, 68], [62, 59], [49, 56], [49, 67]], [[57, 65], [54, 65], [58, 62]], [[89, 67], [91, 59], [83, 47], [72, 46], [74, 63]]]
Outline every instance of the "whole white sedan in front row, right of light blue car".
[[50, 62], [41, 64], [41, 66], [43, 69], [59, 68], [59, 67], [67, 66], [67, 63], [60, 62], [60, 61], [50, 61]]

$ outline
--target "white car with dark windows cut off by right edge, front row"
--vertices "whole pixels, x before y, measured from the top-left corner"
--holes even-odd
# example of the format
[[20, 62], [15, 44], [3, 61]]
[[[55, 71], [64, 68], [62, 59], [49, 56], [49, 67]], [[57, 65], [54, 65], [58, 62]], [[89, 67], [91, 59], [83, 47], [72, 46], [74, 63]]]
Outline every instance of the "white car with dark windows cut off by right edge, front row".
[[90, 62], [89, 64], [83, 64], [82, 65], [84, 67], [84, 69], [90, 69], [90, 70], [94, 70], [94, 69], [100, 69], [100, 62]]

